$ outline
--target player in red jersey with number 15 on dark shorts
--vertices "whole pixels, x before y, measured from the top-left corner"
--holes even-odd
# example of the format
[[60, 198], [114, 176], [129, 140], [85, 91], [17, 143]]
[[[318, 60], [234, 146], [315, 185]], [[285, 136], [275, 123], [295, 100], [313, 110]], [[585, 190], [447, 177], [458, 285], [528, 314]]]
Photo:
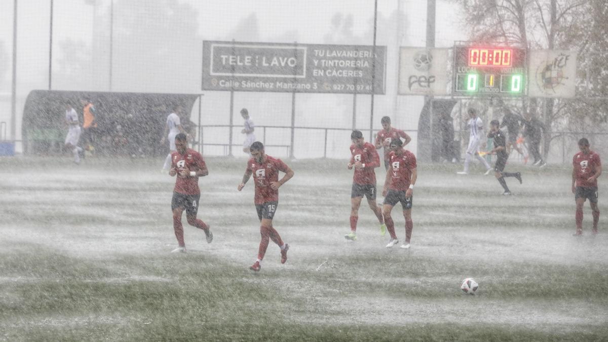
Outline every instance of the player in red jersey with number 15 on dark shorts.
[[[260, 249], [258, 250], [258, 259], [249, 268], [250, 270], [259, 271], [261, 268], [260, 263], [264, 259], [264, 254], [266, 254], [266, 249], [268, 248], [269, 240], [272, 240], [272, 242], [281, 248], [281, 263], [287, 261], [289, 245], [283, 243], [281, 236], [278, 235], [277, 230], [272, 226], [272, 218], [274, 218], [274, 214], [277, 211], [278, 188], [290, 180], [294, 176], [294, 172], [281, 159], [266, 155], [264, 153], [264, 145], [259, 141], [251, 144], [249, 153], [252, 158], [247, 161], [247, 169], [243, 175], [243, 181], [241, 181], [241, 184], [238, 184], [237, 189], [239, 191], [243, 190], [245, 183], [247, 183], [251, 175], [254, 176], [254, 203], [261, 223], [260, 234], [262, 238]], [[285, 173], [285, 176], [281, 180], [278, 179], [279, 171]]]

